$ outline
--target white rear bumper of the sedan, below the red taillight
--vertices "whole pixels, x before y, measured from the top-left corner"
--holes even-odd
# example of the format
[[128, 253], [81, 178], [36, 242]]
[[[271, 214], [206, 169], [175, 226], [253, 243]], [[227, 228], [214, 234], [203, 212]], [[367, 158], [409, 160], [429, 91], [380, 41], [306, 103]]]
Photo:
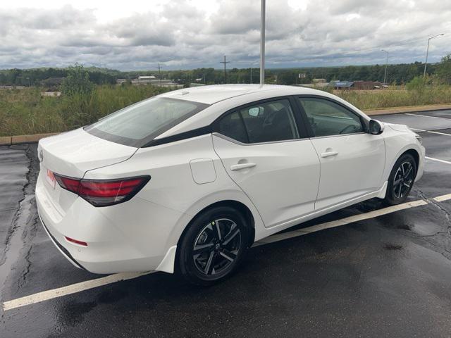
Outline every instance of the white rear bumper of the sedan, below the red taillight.
[[[56, 208], [39, 175], [39, 218], [58, 251], [70, 263], [91, 273], [156, 270], [177, 243], [169, 241], [180, 213], [135, 196], [116, 206], [97, 208], [76, 198], [65, 211]], [[86, 242], [81, 246], [66, 237]], [[169, 269], [170, 270], [170, 269]]]

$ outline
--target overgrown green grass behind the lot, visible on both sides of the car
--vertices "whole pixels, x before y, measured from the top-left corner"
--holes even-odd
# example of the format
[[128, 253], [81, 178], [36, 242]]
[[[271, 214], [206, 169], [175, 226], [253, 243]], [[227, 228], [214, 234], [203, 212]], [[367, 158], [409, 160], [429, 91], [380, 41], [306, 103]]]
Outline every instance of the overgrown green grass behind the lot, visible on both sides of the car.
[[[0, 89], [0, 136], [72, 130], [168, 90], [153, 86], [98, 86], [92, 96], [41, 97], [39, 88]], [[451, 103], [451, 86], [445, 85], [334, 94], [362, 110]]]

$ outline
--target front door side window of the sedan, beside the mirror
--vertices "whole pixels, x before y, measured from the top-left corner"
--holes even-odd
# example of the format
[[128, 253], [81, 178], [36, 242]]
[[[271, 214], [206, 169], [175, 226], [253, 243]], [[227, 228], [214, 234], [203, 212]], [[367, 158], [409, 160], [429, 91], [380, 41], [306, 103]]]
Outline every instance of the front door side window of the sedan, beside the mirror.
[[364, 132], [359, 116], [335, 102], [313, 97], [298, 98], [315, 137]]

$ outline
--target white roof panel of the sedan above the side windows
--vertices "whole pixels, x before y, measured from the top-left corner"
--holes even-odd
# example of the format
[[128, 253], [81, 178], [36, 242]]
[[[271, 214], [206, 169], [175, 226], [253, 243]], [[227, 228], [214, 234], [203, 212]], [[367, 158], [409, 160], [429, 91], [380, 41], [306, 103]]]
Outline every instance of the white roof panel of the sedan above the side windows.
[[261, 92], [264, 96], [283, 96], [293, 94], [316, 94], [317, 90], [305, 87], [280, 86], [276, 84], [214, 84], [175, 90], [161, 94], [163, 97], [196, 101], [202, 104], [216, 104], [219, 101], [231, 99], [246, 94]]

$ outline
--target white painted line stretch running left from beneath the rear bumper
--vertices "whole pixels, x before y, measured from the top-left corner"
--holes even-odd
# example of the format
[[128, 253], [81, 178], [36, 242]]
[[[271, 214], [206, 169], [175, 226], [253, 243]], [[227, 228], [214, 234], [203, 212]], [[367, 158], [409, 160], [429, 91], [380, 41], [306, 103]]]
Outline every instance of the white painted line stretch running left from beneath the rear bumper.
[[13, 299], [12, 301], [5, 301], [3, 303], [3, 310], [8, 311], [25, 305], [48, 301], [49, 299], [66, 296], [68, 294], [75, 294], [77, 292], [94, 289], [94, 287], [101, 287], [103, 285], [120, 282], [121, 280], [132, 280], [136, 277], [149, 275], [149, 273], [154, 273], [154, 271], [149, 271], [147, 273], [116, 273], [115, 275], [109, 275], [95, 280], [87, 280], [85, 282], [71, 284], [67, 287], [58, 287], [58, 289], [38, 292], [37, 294], [20, 297], [18, 299]]

